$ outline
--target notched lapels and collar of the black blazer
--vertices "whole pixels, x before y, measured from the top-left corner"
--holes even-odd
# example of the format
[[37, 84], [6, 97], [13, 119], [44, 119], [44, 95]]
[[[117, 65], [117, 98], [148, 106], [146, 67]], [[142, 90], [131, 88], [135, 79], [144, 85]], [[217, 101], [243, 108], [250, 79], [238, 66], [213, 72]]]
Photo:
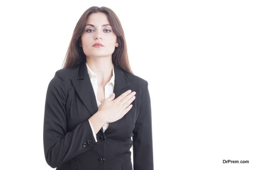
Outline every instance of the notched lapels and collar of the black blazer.
[[[124, 91], [128, 90], [128, 86], [130, 86], [130, 83], [128, 79], [126, 78], [124, 72], [122, 69], [119, 68], [115, 63], [113, 63], [114, 66], [114, 74], [115, 74], [115, 83], [114, 83], [114, 89], [113, 93], [115, 93], [115, 99], [121, 95]], [[72, 84], [79, 95], [79, 98], [85, 105], [85, 107], [88, 109], [91, 115], [95, 114], [98, 111], [98, 106], [96, 102], [96, 97], [93, 91], [93, 86], [90, 81], [90, 76], [88, 74], [86, 61], [82, 61], [82, 63], [79, 65], [79, 69], [77, 72], [77, 75], [71, 79]], [[110, 123], [108, 129], [105, 131], [105, 133], [110, 132], [111, 130], [116, 127], [120, 119], [116, 122]], [[103, 129], [101, 128], [101, 131], [103, 133]]]

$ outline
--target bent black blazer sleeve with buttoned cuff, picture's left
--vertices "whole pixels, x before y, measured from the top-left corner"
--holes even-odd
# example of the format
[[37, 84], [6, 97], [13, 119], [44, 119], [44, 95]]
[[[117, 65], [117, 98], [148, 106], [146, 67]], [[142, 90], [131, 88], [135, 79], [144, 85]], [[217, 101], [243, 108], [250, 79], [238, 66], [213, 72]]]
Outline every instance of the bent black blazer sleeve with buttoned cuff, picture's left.
[[67, 132], [65, 76], [62, 73], [60, 70], [55, 72], [49, 82], [44, 110], [44, 155], [52, 168], [59, 167], [96, 145], [89, 120]]

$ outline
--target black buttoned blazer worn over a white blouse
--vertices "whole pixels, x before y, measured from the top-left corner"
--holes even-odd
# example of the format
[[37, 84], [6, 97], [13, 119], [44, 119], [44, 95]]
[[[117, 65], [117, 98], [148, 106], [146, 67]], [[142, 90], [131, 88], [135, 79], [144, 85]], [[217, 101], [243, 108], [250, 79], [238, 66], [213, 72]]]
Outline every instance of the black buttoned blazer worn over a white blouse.
[[[113, 63], [115, 98], [136, 91], [133, 107], [93, 137], [88, 119], [98, 107], [85, 61], [60, 69], [49, 82], [44, 112], [44, 155], [56, 170], [153, 170], [148, 82]], [[132, 140], [131, 140], [132, 137]], [[131, 146], [133, 162], [131, 163]]]

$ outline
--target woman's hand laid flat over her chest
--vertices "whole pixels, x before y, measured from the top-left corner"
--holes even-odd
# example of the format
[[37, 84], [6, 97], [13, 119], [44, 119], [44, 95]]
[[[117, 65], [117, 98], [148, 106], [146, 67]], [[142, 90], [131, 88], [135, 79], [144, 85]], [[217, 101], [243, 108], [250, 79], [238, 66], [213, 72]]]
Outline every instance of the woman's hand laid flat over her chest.
[[131, 102], [134, 101], [135, 94], [136, 92], [128, 90], [113, 100], [115, 98], [113, 93], [109, 98], [102, 101], [98, 112], [105, 123], [112, 123], [122, 118], [131, 109]]

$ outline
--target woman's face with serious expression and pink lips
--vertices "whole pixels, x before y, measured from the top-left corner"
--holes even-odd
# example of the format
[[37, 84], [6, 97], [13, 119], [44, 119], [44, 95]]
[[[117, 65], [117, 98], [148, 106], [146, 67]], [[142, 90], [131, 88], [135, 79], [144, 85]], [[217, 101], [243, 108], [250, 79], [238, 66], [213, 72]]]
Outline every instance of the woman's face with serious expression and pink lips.
[[[86, 56], [112, 57], [117, 45], [116, 35], [112, 27], [105, 24], [110, 24], [105, 13], [93, 13], [87, 17], [84, 33], [81, 35], [82, 48]], [[94, 47], [95, 43], [101, 43], [102, 46]]]

